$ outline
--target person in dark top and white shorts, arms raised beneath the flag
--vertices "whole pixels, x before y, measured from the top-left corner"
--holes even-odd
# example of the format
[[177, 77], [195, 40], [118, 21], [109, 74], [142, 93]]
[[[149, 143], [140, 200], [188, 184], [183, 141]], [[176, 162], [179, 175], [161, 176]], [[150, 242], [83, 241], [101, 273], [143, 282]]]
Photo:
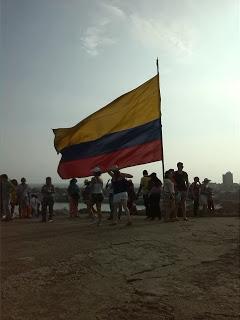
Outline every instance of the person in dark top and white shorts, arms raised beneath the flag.
[[127, 216], [127, 225], [132, 224], [130, 212], [127, 206], [128, 201], [128, 182], [126, 178], [132, 178], [133, 176], [128, 173], [120, 172], [120, 169], [117, 165], [113, 166], [108, 174], [112, 177], [112, 186], [113, 186], [113, 222], [111, 225], [116, 225], [118, 222], [117, 210], [119, 205], [123, 207], [123, 210]]

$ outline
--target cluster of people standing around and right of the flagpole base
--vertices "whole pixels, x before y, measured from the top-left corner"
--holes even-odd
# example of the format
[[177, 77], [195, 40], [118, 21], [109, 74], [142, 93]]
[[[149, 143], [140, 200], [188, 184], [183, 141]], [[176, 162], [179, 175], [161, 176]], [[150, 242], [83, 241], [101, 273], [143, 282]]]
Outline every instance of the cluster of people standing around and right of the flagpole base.
[[[146, 208], [146, 219], [161, 219], [163, 211], [164, 221], [177, 221], [181, 215], [185, 221], [187, 218], [186, 201], [193, 202], [194, 216], [198, 215], [201, 205], [203, 213], [207, 209], [214, 211], [213, 191], [209, 187], [211, 180], [205, 178], [202, 183], [198, 177], [189, 183], [187, 172], [183, 171], [183, 163], [177, 163], [177, 170], [169, 169], [164, 174], [163, 186], [155, 173], [148, 175], [143, 171], [138, 194], [142, 191]], [[159, 205], [162, 198], [162, 206]]]

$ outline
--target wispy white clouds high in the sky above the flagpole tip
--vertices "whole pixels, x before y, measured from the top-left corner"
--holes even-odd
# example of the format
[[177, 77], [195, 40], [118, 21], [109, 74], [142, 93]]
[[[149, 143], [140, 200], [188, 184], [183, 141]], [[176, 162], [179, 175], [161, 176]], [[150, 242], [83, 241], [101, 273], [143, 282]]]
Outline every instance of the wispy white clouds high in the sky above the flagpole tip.
[[185, 62], [189, 60], [194, 39], [189, 23], [177, 17], [156, 15], [156, 12], [146, 16], [143, 10], [137, 12], [135, 9], [123, 10], [116, 2], [101, 2], [95, 23], [87, 27], [81, 37], [86, 52], [97, 56], [105, 47], [116, 44], [120, 33], [125, 32], [125, 38], [131, 37], [132, 41], [157, 51], [159, 55], [169, 55]]

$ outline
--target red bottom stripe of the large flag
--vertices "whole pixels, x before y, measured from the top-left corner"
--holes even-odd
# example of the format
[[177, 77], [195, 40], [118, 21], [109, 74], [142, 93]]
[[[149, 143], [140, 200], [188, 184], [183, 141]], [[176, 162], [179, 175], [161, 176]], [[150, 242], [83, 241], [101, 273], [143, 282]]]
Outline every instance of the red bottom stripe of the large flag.
[[161, 140], [151, 141], [142, 145], [125, 148], [115, 152], [73, 160], [60, 161], [58, 174], [62, 179], [89, 177], [94, 167], [99, 166], [107, 172], [114, 165], [120, 168], [162, 160]]

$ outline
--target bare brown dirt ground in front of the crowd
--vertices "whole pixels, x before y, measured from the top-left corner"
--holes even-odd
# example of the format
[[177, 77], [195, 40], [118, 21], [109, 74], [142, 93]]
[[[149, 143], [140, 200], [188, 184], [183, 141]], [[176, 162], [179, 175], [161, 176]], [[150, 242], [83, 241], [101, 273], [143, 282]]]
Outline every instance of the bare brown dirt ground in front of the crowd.
[[2, 320], [240, 319], [239, 218], [2, 223]]

